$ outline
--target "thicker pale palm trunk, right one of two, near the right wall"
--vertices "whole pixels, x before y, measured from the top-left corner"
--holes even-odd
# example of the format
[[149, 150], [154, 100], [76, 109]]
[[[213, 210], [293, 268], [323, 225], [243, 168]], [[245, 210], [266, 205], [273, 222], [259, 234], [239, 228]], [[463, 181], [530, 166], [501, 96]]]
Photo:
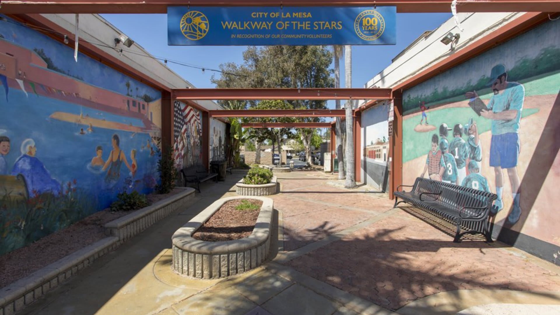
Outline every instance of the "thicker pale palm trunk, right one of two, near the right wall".
[[[344, 46], [344, 83], [348, 89], [352, 88], [352, 46]], [[354, 161], [354, 120], [352, 117], [352, 112], [354, 110], [353, 106], [354, 100], [348, 100], [344, 109], [346, 109], [346, 155], [344, 159], [346, 160], [346, 182], [344, 182], [344, 187], [352, 188], [356, 187], [356, 163]]]

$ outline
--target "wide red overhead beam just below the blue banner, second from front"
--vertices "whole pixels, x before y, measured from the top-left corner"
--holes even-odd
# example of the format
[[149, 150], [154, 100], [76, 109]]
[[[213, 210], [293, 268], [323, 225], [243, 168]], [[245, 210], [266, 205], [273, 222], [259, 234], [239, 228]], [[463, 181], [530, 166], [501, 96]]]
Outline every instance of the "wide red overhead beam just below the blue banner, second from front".
[[391, 89], [177, 89], [178, 100], [390, 99]]

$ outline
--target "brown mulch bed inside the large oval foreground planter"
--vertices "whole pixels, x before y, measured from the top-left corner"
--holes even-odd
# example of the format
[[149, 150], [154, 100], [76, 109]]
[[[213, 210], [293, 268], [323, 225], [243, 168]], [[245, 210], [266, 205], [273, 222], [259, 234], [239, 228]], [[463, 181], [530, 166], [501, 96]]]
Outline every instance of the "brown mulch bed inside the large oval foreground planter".
[[[235, 207], [248, 200], [256, 210], [237, 210]], [[236, 199], [224, 203], [218, 211], [193, 233], [193, 238], [218, 242], [248, 237], [253, 233], [263, 202], [255, 199]]]

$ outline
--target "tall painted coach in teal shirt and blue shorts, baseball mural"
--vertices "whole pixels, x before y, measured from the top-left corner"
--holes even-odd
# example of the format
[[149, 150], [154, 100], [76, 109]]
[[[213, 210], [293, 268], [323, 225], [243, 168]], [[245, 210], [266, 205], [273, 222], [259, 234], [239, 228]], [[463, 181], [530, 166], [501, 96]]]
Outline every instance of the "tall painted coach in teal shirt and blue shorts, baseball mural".
[[[490, 145], [490, 166], [496, 173], [496, 194], [493, 212], [503, 208], [503, 172], [507, 169], [510, 178], [513, 198], [513, 209], [507, 216], [507, 221], [515, 224], [521, 216], [520, 180], [517, 174], [517, 159], [519, 158], [519, 127], [521, 110], [525, 99], [525, 87], [517, 82], [507, 81], [506, 66], [498, 64], [492, 68], [489, 85], [494, 95], [488, 102], [488, 110], [482, 110], [482, 117], [492, 120], [492, 140]], [[478, 98], [476, 91], [466, 92], [466, 98], [471, 101]]]

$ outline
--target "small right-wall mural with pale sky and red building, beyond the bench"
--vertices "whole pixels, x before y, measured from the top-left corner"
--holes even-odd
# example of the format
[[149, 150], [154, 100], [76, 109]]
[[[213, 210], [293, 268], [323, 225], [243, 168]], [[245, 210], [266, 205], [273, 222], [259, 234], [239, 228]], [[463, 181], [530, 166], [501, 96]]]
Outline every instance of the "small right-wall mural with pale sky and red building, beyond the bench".
[[386, 191], [389, 184], [389, 103], [362, 112], [361, 179], [368, 186]]

